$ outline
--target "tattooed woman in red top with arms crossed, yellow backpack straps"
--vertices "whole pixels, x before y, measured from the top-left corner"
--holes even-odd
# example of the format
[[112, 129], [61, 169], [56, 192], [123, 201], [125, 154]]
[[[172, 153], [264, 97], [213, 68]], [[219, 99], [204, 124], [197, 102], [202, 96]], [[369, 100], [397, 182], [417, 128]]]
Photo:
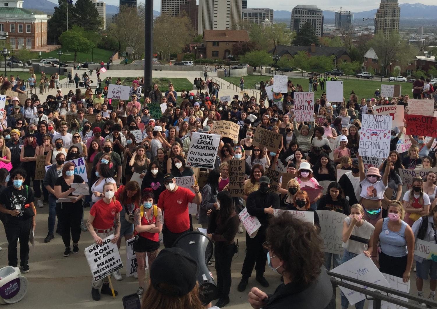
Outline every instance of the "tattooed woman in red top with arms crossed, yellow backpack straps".
[[[135, 241], [134, 252], [138, 262], [138, 281], [139, 288], [137, 294], [141, 297], [146, 286], [146, 252], [149, 259], [149, 267], [152, 265], [160, 248], [160, 236], [163, 229], [163, 216], [160, 208], [153, 205], [153, 192], [146, 191], [142, 195], [143, 214], [141, 209], [135, 208]], [[157, 215], [154, 214], [157, 208]]]

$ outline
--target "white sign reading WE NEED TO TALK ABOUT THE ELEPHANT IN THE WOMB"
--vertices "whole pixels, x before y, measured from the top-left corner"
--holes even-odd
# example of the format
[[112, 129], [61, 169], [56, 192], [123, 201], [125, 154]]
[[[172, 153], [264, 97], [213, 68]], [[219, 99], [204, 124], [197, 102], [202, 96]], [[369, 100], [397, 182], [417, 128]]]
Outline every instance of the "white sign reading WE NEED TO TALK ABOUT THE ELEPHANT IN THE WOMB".
[[361, 156], [387, 158], [390, 151], [392, 118], [386, 115], [362, 115], [359, 153]]

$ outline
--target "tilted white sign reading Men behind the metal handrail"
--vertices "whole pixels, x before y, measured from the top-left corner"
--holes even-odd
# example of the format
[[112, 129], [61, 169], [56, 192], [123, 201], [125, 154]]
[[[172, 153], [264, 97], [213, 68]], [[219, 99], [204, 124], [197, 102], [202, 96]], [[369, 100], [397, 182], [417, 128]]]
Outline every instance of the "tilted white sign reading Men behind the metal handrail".
[[[375, 263], [373, 263], [370, 257], [366, 257], [364, 253], [361, 253], [353, 259], [350, 259], [340, 266], [335, 267], [331, 272], [336, 274], [342, 274], [343, 276], [358, 279], [361, 281], [373, 283], [375, 285], [381, 285], [387, 288], [390, 287], [387, 280], [385, 280], [384, 276], [379, 271], [378, 267], [376, 267]], [[375, 289], [369, 288], [365, 285], [359, 285], [350, 281], [345, 282], [349, 283], [350, 285], [355, 285], [360, 288], [375, 291]], [[346, 296], [347, 300], [350, 302], [351, 305], [355, 305], [357, 302], [360, 302], [361, 300], [366, 298], [365, 294], [350, 290], [348, 288], [343, 288], [340, 286], [340, 290]]]

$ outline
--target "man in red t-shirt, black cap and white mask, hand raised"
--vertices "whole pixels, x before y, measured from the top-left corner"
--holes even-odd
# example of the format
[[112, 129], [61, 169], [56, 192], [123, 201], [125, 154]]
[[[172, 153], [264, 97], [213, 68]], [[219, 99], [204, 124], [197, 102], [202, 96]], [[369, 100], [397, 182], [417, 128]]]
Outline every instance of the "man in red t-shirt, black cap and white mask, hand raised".
[[164, 212], [164, 247], [170, 248], [179, 236], [190, 231], [188, 203], [200, 204], [202, 196], [197, 184], [191, 186], [193, 193], [187, 188], [177, 186], [172, 174], [164, 175], [164, 185], [166, 190], [160, 194], [158, 207]]

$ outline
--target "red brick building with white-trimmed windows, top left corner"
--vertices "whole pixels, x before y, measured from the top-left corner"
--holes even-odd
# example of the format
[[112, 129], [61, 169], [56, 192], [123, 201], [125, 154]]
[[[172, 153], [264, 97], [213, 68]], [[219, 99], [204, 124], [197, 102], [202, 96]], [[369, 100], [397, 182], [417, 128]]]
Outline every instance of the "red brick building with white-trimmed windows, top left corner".
[[48, 19], [23, 9], [23, 0], [0, 0], [0, 39], [14, 49], [42, 49], [47, 46]]

